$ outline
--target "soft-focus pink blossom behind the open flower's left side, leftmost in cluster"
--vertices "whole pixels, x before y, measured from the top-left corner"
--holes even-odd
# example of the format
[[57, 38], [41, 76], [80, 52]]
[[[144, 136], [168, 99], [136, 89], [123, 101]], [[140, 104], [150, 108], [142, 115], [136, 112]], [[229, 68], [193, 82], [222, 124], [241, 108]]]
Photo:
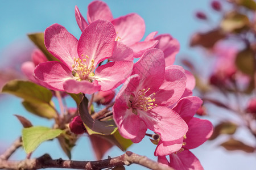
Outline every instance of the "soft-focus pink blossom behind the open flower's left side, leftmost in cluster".
[[27, 76], [27, 79], [31, 82], [40, 84], [34, 77], [34, 69], [39, 63], [47, 62], [48, 59], [44, 56], [44, 53], [39, 49], [35, 49], [31, 54], [31, 60], [22, 63], [22, 72]]

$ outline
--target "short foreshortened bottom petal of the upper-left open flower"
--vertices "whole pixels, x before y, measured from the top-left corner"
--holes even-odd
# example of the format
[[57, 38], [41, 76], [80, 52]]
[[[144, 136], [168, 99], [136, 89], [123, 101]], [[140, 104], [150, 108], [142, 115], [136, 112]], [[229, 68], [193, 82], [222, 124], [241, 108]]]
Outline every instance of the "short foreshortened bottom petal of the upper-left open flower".
[[64, 90], [72, 94], [94, 94], [94, 92], [100, 91], [101, 86], [98, 85], [97, 80], [94, 80], [93, 83], [88, 82], [87, 80], [77, 81], [70, 79], [64, 82]]

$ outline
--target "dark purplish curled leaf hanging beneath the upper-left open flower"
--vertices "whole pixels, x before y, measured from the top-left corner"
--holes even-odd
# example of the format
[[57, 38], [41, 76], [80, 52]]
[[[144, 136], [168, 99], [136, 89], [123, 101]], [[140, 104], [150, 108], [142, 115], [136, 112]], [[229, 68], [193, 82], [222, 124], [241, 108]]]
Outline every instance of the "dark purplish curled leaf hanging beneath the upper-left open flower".
[[113, 120], [93, 120], [88, 112], [88, 99], [86, 99], [86, 97], [83, 97], [81, 103], [79, 104], [79, 114], [89, 135], [111, 135], [117, 130], [117, 126]]

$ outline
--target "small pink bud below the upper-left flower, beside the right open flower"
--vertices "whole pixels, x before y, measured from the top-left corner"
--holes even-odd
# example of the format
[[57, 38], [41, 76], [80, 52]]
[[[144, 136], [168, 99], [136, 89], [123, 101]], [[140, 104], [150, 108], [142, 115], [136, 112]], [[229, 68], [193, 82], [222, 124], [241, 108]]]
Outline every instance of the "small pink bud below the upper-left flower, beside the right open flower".
[[115, 92], [113, 90], [100, 91], [94, 96], [94, 102], [97, 104], [107, 105], [115, 97]]

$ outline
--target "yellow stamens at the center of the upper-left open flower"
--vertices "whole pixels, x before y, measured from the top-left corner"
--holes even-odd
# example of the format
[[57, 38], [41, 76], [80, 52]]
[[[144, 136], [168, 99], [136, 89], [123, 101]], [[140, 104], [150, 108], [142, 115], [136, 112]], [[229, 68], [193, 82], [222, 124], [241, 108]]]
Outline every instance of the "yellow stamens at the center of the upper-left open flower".
[[[82, 55], [84, 56], [84, 55]], [[89, 58], [87, 55], [86, 58]], [[90, 66], [86, 65], [86, 58], [85, 59], [76, 59], [74, 57], [74, 64], [72, 65], [73, 71], [72, 74], [75, 76], [76, 80], [89, 80], [92, 82], [92, 77], [94, 76], [93, 70], [94, 67], [94, 59], [92, 59], [90, 62]]]

